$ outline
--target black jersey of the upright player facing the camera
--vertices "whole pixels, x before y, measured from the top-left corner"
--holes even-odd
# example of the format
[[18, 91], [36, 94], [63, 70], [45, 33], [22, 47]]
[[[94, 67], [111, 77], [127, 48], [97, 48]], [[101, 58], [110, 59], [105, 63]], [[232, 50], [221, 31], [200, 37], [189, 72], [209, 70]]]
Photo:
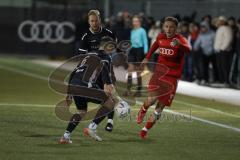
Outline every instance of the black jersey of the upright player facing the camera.
[[87, 52], [96, 52], [99, 49], [99, 45], [102, 37], [109, 36], [117, 42], [116, 36], [107, 28], [101, 28], [97, 33], [88, 29], [80, 40], [79, 54], [85, 54]]

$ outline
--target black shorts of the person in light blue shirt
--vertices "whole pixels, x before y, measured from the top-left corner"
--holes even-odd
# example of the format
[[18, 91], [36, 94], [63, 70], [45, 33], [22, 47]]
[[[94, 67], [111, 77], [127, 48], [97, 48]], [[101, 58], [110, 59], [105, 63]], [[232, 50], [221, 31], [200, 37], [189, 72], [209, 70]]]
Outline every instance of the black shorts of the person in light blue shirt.
[[128, 63], [142, 62], [144, 57], [145, 57], [145, 55], [144, 55], [143, 47], [131, 48], [131, 50], [128, 54]]

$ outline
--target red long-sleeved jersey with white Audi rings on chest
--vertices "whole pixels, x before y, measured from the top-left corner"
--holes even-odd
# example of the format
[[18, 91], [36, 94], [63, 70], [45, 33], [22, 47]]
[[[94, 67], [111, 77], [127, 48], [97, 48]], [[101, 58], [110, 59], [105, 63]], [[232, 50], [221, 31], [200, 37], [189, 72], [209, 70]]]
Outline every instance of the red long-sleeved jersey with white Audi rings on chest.
[[[181, 45], [171, 46], [170, 43], [174, 39], [178, 39]], [[169, 68], [166, 75], [180, 78], [184, 64], [184, 53], [190, 52], [190, 45], [187, 39], [180, 34], [167, 38], [166, 34], [160, 33], [147, 53], [146, 58], [149, 60], [157, 49], [159, 49], [158, 63]]]

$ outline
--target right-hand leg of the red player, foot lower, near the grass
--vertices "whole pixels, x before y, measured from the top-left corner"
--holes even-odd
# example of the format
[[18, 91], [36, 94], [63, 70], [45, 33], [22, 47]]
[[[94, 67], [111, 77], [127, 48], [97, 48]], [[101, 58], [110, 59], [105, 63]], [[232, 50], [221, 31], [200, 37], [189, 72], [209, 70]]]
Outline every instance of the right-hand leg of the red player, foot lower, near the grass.
[[142, 128], [142, 130], [139, 133], [139, 136], [142, 139], [146, 138], [148, 130], [151, 129], [153, 127], [153, 125], [156, 123], [156, 121], [160, 118], [164, 107], [165, 107], [165, 105], [161, 104], [160, 102], [157, 103], [154, 112], [150, 115], [150, 117], [147, 120], [146, 125]]

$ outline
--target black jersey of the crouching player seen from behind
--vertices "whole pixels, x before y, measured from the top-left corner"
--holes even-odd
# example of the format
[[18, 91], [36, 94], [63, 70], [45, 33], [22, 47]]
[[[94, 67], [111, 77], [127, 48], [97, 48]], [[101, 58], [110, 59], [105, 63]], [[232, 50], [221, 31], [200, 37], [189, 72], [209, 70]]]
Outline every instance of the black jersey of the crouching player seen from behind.
[[79, 65], [70, 76], [69, 83], [78, 82], [92, 87], [97, 84], [103, 88], [103, 84], [112, 84], [110, 55], [103, 51], [90, 52], [82, 55]]

